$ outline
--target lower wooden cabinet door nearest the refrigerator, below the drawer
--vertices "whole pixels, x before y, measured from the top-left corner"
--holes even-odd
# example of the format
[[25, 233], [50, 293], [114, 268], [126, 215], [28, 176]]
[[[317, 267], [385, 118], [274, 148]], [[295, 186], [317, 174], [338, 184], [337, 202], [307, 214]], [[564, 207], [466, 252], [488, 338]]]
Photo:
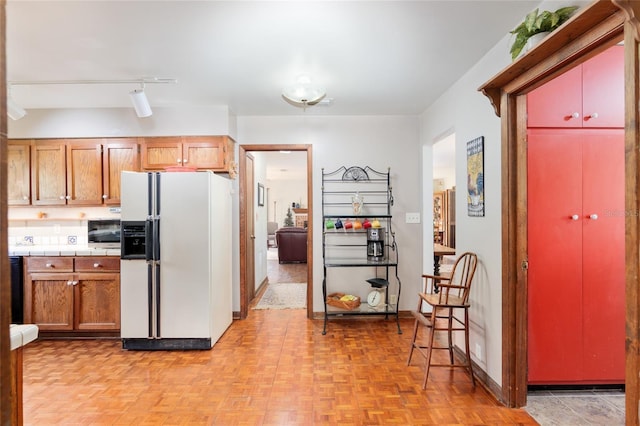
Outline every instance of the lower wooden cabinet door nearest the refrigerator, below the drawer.
[[75, 329], [120, 330], [120, 274], [77, 275]]

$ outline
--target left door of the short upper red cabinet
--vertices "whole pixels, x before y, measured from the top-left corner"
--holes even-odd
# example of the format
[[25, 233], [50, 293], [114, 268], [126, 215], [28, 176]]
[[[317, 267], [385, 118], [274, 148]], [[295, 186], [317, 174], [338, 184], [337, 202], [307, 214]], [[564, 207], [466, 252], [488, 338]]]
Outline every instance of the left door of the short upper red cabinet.
[[581, 66], [527, 94], [527, 127], [582, 127]]

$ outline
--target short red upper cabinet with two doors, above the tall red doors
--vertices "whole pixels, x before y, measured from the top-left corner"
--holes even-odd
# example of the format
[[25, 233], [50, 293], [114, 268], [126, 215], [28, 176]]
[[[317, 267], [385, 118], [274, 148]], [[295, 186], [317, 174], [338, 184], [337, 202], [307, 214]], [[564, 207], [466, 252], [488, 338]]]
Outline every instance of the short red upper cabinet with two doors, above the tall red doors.
[[613, 46], [527, 95], [528, 127], [624, 127], [624, 49]]

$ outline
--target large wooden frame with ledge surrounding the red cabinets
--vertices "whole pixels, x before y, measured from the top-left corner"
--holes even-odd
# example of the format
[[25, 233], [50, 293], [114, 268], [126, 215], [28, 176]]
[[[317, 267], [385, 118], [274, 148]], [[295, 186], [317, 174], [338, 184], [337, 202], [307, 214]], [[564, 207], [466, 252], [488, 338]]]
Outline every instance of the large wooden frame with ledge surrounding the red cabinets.
[[502, 400], [527, 397], [526, 93], [624, 37], [626, 422], [638, 424], [640, 280], [640, 2], [600, 0], [586, 6], [540, 45], [479, 88], [501, 117], [502, 133]]

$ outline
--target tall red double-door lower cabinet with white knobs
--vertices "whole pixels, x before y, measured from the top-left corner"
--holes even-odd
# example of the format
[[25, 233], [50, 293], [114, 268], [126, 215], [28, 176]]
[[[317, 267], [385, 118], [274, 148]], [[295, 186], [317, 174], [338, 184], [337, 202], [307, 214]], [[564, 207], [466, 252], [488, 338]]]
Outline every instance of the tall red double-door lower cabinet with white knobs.
[[623, 383], [624, 130], [528, 131], [530, 384]]

